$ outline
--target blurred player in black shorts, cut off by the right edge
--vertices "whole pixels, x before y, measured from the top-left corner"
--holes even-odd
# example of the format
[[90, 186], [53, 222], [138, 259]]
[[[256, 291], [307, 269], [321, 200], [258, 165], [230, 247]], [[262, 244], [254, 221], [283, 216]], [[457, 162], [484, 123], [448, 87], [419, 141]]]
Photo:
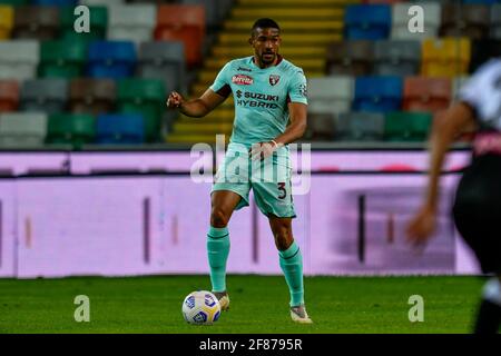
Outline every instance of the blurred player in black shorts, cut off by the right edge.
[[407, 227], [409, 239], [424, 244], [435, 227], [442, 162], [463, 131], [475, 131], [471, 165], [455, 194], [453, 217], [485, 274], [474, 333], [498, 333], [501, 322], [501, 59], [484, 63], [461, 88], [456, 103], [436, 118], [431, 135], [431, 168], [425, 201]]

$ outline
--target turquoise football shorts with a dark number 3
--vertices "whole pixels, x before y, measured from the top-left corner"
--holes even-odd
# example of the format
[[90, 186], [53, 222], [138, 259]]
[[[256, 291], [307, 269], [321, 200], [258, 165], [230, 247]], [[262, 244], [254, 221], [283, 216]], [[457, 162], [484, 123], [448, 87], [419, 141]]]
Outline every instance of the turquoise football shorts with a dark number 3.
[[248, 148], [229, 144], [220, 164], [213, 190], [230, 190], [242, 197], [236, 210], [248, 206], [248, 194], [266, 216], [295, 218], [292, 197], [292, 165], [287, 147], [282, 147], [263, 161], [252, 161]]

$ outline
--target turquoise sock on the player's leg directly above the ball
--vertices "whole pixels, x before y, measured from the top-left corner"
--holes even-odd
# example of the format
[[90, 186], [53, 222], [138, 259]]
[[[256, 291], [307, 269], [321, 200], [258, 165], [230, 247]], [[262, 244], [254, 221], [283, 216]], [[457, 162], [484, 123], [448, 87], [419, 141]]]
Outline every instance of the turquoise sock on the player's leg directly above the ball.
[[229, 233], [227, 227], [209, 228], [207, 233], [207, 255], [210, 267], [213, 291], [226, 290], [226, 260], [229, 254]]

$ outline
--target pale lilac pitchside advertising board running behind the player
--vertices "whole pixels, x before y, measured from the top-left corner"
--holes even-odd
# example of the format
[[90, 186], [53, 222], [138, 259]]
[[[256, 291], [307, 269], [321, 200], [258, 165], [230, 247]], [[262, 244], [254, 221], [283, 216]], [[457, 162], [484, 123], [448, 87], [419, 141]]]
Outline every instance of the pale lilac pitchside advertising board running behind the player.
[[[0, 171], [17, 177], [0, 179], [0, 276], [206, 274], [210, 184], [193, 181], [196, 160], [189, 151], [2, 154]], [[454, 151], [445, 170], [468, 161]], [[405, 243], [425, 151], [312, 151], [293, 162], [306, 275], [479, 273], [450, 216], [459, 174], [443, 176], [435, 238], [421, 254]], [[229, 273], [281, 273], [254, 204], [229, 229]]]

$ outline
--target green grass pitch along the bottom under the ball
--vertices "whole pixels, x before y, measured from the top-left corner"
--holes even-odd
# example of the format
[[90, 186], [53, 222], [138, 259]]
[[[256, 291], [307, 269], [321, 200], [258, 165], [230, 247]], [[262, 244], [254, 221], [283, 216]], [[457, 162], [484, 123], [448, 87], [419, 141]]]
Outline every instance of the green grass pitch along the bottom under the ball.
[[[281, 276], [230, 275], [230, 310], [213, 326], [183, 319], [184, 297], [209, 288], [207, 276], [0, 279], [0, 333], [469, 333], [479, 277], [307, 277], [313, 325], [289, 319]], [[90, 322], [77, 323], [77, 295], [90, 299]], [[411, 323], [409, 297], [424, 299], [424, 322]]]

